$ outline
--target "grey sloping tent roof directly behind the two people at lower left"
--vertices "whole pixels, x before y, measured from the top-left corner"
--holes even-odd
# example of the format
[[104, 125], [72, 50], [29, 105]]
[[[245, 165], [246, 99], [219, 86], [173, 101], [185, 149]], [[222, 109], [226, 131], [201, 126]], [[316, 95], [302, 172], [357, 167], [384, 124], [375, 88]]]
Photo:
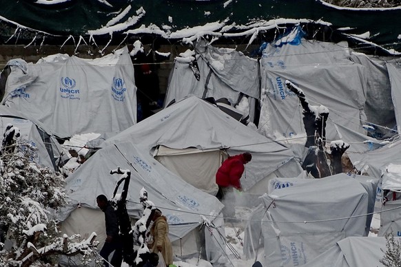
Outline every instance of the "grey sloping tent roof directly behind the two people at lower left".
[[[76, 209], [77, 204], [98, 209], [97, 195], [104, 194], [110, 199], [116, 182], [120, 179], [119, 175], [110, 175], [110, 171], [117, 167], [131, 171], [127, 197], [129, 215], [141, 217], [143, 207], [139, 203], [139, 192], [144, 187], [148, 199], [167, 217], [170, 234], [176, 237], [175, 239], [199, 226], [202, 222], [201, 215], [213, 220], [223, 208], [223, 204], [216, 197], [187, 184], [165, 169], [149, 153], [141, 152], [130, 142], [122, 142], [97, 151], [65, 180], [70, 203], [61, 212], [61, 220], [65, 220]], [[122, 187], [123, 184], [120, 191]]]

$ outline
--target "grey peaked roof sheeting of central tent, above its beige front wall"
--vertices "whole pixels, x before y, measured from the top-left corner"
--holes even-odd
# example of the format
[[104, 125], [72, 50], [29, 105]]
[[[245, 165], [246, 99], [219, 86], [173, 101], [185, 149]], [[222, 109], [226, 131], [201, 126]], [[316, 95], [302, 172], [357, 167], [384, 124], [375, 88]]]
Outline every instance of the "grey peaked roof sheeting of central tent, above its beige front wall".
[[[230, 156], [249, 152], [252, 160], [245, 165], [245, 172], [240, 180], [244, 191], [248, 191], [275, 171], [282, 171], [290, 176], [296, 176], [302, 171], [290, 149], [260, 135], [218, 107], [195, 96], [159, 111], [105, 140], [103, 144], [114, 144], [123, 140], [131, 140], [143, 151], [149, 152], [158, 145], [172, 149], [226, 149]], [[201, 165], [198, 167], [203, 168]]]

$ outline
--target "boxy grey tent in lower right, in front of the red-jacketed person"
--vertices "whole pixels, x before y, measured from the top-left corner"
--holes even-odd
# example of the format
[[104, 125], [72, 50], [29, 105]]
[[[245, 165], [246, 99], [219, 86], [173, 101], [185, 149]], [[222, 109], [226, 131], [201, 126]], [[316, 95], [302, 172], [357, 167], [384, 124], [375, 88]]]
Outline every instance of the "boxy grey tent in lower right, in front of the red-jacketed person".
[[345, 237], [367, 235], [364, 215], [373, 209], [372, 184], [371, 178], [334, 175], [278, 186], [261, 197], [263, 204], [251, 215], [245, 255], [252, 257], [261, 238], [267, 265], [300, 266]]

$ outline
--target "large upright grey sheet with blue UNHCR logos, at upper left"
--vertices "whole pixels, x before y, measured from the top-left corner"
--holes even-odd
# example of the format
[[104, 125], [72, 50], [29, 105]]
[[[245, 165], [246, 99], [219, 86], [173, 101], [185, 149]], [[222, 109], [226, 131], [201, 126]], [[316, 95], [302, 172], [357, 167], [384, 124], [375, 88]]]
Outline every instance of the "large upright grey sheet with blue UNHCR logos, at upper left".
[[35, 64], [13, 59], [7, 65], [3, 105], [29, 114], [56, 136], [119, 132], [136, 122], [127, 47], [96, 59], [56, 54]]

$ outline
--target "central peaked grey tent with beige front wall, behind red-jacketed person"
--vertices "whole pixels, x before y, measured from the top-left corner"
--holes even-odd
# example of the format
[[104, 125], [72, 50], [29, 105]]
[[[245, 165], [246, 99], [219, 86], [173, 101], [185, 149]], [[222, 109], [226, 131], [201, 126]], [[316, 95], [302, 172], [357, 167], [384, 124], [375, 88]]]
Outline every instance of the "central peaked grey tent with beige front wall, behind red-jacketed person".
[[215, 175], [222, 162], [222, 151], [230, 156], [245, 151], [252, 154], [241, 184], [244, 191], [254, 195], [265, 192], [269, 178], [294, 177], [302, 171], [287, 147], [196, 96], [170, 105], [104, 144], [119, 144], [123, 140], [135, 142], [167, 169], [209, 193], [217, 192]]

